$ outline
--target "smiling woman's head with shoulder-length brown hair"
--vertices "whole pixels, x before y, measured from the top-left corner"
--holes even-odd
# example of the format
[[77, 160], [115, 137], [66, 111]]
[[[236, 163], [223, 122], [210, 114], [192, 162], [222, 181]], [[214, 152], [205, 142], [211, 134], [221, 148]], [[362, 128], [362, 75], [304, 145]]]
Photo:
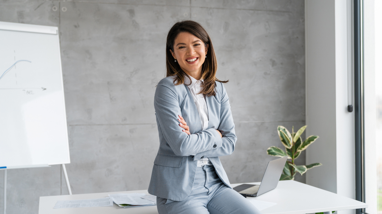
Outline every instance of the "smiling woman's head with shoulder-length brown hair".
[[[206, 30], [197, 22], [177, 22], [170, 29], [166, 42], [167, 77], [175, 76], [175, 85], [185, 82], [185, 75], [203, 79], [201, 94], [214, 96], [217, 61], [214, 46]], [[186, 76], [187, 77], [187, 76]]]

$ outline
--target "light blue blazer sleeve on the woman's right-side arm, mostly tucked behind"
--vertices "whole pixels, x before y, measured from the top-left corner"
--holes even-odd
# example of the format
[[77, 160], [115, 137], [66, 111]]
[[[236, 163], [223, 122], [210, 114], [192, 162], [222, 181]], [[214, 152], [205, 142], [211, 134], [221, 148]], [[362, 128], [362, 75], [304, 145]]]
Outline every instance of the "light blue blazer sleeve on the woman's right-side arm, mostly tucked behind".
[[201, 157], [212, 158], [230, 155], [233, 150], [235, 150], [237, 137], [235, 134], [235, 123], [233, 123], [231, 113], [231, 105], [223, 83], [220, 84], [222, 85], [222, 98], [220, 102], [220, 123], [218, 130], [222, 133], [223, 136], [222, 147], [197, 153], [194, 157], [194, 161], [200, 160]]

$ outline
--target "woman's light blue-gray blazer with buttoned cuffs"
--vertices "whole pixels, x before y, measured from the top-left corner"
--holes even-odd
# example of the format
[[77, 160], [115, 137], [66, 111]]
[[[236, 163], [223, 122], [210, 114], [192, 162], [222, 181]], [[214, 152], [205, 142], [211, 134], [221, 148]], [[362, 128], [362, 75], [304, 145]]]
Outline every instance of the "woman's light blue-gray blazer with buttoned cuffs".
[[[209, 123], [202, 131], [199, 112], [186, 85], [174, 85], [173, 77], [159, 81], [154, 108], [159, 132], [159, 150], [152, 168], [149, 193], [160, 198], [183, 201], [191, 193], [197, 160], [209, 158], [225, 185], [228, 181], [219, 156], [235, 149], [236, 134], [230, 102], [222, 83], [215, 82], [216, 95], [206, 97]], [[190, 135], [179, 126], [181, 115]], [[223, 137], [215, 129], [221, 131]]]

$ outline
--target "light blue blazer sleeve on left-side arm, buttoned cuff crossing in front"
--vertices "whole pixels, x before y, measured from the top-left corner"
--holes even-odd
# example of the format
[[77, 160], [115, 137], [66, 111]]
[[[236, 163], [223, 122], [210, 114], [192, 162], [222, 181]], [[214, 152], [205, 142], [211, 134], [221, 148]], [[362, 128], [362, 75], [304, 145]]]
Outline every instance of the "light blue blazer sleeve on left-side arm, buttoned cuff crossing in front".
[[178, 121], [181, 110], [175, 87], [159, 82], [155, 90], [154, 108], [163, 136], [175, 155], [189, 156], [222, 147], [222, 138], [213, 128], [196, 134], [186, 134], [182, 131]]

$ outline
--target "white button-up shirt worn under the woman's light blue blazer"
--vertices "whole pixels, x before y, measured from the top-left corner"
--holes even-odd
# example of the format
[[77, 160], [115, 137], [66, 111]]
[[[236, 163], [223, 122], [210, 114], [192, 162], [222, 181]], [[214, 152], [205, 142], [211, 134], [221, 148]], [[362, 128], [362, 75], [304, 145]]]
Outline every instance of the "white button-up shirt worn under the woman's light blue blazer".
[[[208, 110], [207, 110], [207, 103], [206, 98], [203, 96], [203, 94], [199, 94], [199, 92], [202, 90], [201, 83], [203, 80], [196, 80], [195, 78], [191, 77], [191, 84], [190, 80], [187, 76], [185, 76], [185, 85], [188, 85], [188, 89], [191, 92], [192, 98], [194, 99], [194, 103], [196, 106], [197, 111], [199, 112], [200, 121], [202, 123], [203, 129], [205, 130], [208, 127]], [[203, 167], [204, 165], [212, 165], [211, 161], [208, 158], [203, 158], [201, 160], [197, 160], [197, 167]]]

